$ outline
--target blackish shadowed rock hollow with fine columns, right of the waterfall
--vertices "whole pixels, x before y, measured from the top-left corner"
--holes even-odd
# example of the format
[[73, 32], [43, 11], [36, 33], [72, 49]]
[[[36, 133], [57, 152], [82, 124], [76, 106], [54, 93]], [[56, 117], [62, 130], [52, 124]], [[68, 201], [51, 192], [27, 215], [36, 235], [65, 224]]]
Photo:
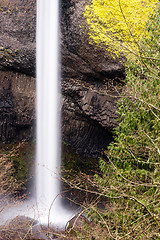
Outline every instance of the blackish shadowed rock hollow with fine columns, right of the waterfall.
[[[73, 106], [72, 106], [73, 107]], [[112, 140], [111, 133], [92, 121], [68, 109], [63, 109], [63, 140], [77, 154], [98, 157], [102, 149]]]

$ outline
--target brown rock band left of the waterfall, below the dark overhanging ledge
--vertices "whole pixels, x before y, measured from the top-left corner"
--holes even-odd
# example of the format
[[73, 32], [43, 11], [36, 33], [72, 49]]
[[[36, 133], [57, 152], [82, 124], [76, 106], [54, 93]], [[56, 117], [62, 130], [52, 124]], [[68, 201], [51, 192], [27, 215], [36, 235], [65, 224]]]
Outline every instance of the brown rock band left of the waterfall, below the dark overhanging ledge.
[[0, 141], [30, 139], [35, 122], [35, 79], [0, 71]]

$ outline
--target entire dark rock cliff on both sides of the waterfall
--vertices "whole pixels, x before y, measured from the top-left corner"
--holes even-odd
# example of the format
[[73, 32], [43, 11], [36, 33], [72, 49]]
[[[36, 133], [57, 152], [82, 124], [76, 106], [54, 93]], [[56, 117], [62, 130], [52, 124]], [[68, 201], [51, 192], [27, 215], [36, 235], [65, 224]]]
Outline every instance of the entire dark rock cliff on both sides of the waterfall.
[[[97, 156], [117, 125], [124, 66], [111, 59], [104, 47], [89, 44], [83, 17], [87, 3], [61, 0], [60, 4], [62, 137], [78, 153]], [[36, 1], [0, 0], [0, 7], [0, 141], [31, 138]]]

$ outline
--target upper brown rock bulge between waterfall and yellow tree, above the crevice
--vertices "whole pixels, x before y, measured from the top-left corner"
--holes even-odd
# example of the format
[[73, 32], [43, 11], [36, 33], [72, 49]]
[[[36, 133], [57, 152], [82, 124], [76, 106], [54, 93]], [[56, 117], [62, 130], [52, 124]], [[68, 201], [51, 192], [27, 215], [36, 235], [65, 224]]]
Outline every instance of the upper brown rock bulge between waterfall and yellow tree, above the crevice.
[[[124, 77], [124, 66], [113, 59], [106, 47], [91, 43], [83, 16], [90, 0], [61, 0], [62, 73], [82, 79], [103, 80]], [[70, 74], [73, 74], [72, 76]]]

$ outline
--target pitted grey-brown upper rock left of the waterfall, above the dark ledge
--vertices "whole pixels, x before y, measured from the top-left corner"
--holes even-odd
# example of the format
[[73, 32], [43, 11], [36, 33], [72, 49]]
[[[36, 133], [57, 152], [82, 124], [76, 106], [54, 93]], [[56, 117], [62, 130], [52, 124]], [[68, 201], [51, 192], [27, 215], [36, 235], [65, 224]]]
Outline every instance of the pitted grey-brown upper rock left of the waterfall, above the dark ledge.
[[36, 0], [0, 0], [0, 68], [35, 75]]

